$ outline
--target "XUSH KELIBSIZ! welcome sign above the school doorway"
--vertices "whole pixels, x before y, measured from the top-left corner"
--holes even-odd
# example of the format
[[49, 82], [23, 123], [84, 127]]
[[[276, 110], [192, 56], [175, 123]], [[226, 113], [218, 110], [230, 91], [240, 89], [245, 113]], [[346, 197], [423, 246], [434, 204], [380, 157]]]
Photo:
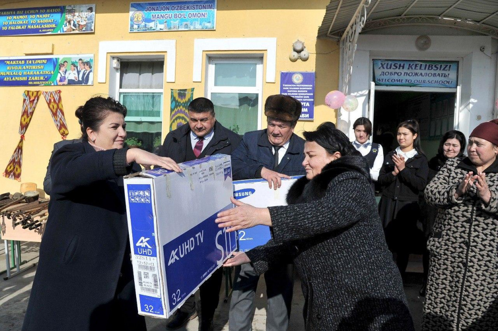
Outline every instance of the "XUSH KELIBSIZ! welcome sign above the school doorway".
[[458, 61], [374, 59], [373, 80], [380, 86], [456, 88]]

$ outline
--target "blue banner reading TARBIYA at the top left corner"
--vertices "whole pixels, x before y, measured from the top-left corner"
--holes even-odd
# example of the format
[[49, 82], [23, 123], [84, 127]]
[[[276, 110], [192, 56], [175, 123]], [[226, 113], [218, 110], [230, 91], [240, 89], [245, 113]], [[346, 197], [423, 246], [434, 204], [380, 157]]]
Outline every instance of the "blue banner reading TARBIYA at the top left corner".
[[0, 9], [0, 36], [93, 32], [95, 4]]

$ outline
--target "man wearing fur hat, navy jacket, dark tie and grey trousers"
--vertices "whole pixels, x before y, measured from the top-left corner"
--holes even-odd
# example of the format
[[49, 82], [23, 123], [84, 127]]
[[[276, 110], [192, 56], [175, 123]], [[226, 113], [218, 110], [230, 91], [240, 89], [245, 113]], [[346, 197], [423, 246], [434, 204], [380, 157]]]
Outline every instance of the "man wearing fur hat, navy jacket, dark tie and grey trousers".
[[[264, 130], [244, 134], [241, 144], [232, 153], [234, 180], [263, 178], [270, 189], [281, 185], [281, 178], [305, 175], [304, 140], [294, 133], [301, 103], [289, 96], [273, 95], [266, 99]], [[264, 274], [268, 307], [267, 331], [287, 330], [292, 290], [293, 265], [282, 261]], [[251, 330], [252, 308], [259, 275], [249, 263], [236, 267], [234, 291], [230, 302], [230, 331]]]

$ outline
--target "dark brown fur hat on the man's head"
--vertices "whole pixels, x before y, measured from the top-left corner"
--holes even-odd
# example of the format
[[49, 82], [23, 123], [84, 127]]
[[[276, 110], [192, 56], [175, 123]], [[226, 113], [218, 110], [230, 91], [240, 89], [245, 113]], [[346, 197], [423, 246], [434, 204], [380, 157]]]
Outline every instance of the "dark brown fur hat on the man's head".
[[275, 94], [266, 99], [264, 114], [281, 121], [295, 122], [301, 115], [301, 102], [290, 96]]

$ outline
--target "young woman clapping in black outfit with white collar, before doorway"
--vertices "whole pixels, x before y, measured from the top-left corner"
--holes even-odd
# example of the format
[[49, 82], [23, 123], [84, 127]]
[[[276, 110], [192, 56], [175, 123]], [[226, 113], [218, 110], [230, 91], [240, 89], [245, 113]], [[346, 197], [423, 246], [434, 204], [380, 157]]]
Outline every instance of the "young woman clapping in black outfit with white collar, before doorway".
[[399, 123], [396, 139], [399, 146], [387, 153], [378, 175], [378, 183], [382, 186], [378, 213], [387, 246], [404, 278], [409, 254], [424, 251], [423, 232], [417, 227], [420, 220], [418, 197], [427, 183], [428, 166], [420, 147], [416, 120]]

